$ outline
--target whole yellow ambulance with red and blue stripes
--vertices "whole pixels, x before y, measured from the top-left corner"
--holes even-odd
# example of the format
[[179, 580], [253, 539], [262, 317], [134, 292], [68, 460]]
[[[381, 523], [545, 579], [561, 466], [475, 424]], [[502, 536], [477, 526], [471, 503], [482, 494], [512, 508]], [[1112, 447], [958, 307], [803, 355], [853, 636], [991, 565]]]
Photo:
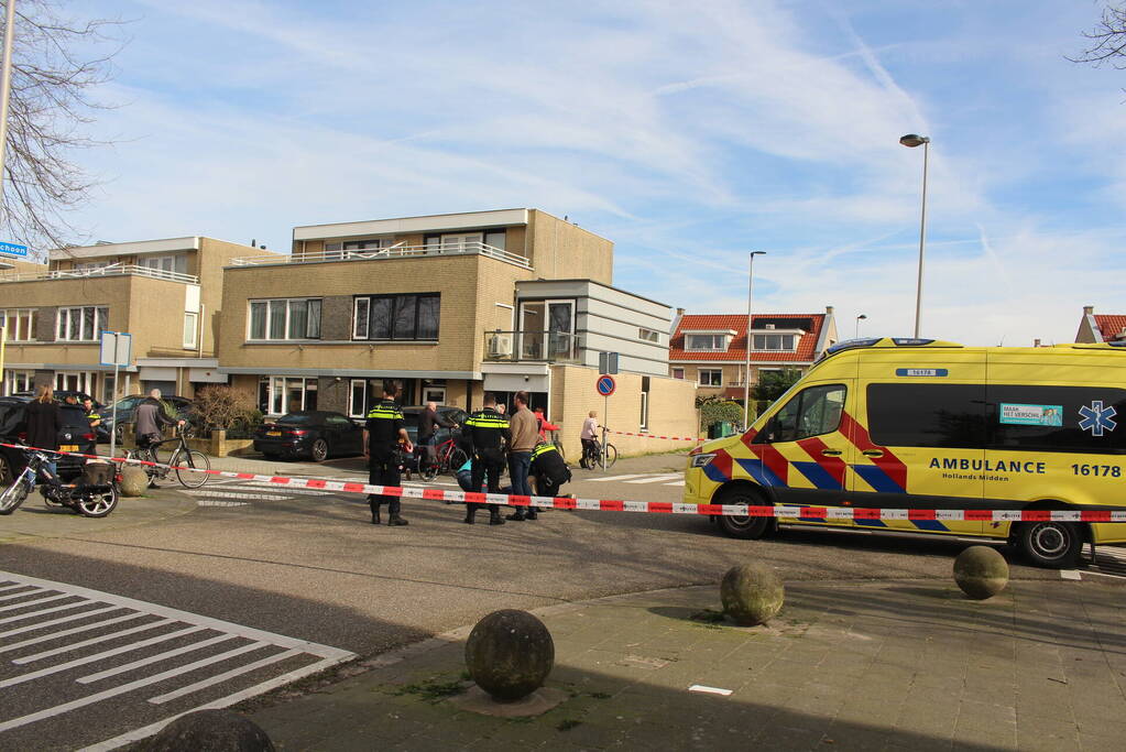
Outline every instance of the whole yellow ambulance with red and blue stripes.
[[[1126, 348], [969, 348], [927, 339], [831, 347], [742, 436], [692, 451], [685, 502], [915, 510], [1126, 508]], [[936, 516], [941, 517], [941, 514]], [[1124, 522], [720, 517], [1000, 538], [1042, 566]]]

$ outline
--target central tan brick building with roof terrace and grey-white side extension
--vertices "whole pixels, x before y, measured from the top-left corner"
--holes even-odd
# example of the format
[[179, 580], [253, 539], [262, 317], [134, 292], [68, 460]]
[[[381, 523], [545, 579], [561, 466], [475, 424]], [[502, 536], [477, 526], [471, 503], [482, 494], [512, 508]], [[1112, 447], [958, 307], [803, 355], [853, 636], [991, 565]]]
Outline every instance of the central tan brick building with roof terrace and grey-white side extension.
[[466, 410], [525, 390], [578, 451], [613, 349], [620, 430], [658, 411], [654, 432], [695, 430], [691, 392], [668, 376], [671, 311], [614, 288], [613, 263], [610, 241], [533, 208], [298, 226], [291, 256], [226, 268], [218, 370], [269, 415], [359, 418], [387, 379], [403, 404]]

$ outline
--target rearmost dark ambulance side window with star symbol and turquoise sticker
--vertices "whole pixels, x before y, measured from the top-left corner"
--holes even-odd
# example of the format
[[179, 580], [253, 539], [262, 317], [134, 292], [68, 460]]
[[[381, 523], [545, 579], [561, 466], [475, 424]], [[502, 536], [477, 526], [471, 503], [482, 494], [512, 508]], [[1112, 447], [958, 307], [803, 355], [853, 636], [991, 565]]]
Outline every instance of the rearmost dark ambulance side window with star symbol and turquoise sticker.
[[991, 384], [988, 395], [994, 449], [1126, 454], [1126, 390]]

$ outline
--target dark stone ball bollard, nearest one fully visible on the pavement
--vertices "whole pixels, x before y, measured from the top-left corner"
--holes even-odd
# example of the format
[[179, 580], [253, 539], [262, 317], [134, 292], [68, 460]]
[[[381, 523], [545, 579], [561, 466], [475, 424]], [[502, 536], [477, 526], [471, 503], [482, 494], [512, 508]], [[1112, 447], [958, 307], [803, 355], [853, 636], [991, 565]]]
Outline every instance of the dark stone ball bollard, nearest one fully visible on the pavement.
[[465, 643], [465, 665], [494, 700], [512, 702], [544, 684], [555, 664], [555, 641], [527, 611], [503, 609], [484, 617]]

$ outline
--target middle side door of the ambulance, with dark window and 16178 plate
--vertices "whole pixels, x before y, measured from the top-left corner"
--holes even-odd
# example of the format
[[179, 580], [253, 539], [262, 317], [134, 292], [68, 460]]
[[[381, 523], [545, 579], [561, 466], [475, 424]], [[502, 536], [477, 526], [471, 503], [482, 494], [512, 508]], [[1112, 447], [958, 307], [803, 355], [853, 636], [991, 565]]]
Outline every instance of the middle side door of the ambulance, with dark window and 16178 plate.
[[[857, 450], [851, 503], [915, 510], [980, 508], [985, 485], [984, 353], [873, 349], [860, 356], [858, 381], [858, 409], [848, 429]], [[982, 522], [944, 519], [863, 525], [951, 535], [984, 531]]]

